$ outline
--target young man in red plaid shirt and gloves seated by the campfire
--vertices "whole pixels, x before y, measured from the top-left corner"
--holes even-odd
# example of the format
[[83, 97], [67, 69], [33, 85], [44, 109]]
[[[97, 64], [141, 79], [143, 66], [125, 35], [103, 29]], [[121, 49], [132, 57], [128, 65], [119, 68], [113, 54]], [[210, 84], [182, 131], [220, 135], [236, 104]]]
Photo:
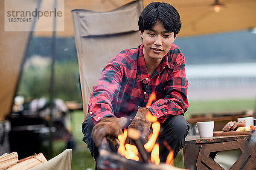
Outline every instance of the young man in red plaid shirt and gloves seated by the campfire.
[[[90, 97], [88, 113], [82, 125], [84, 142], [95, 160], [102, 138], [117, 137], [125, 128], [135, 128], [148, 141], [151, 122], [145, 115], [151, 112], [161, 123], [157, 138], [160, 161], [166, 161], [169, 150], [166, 141], [177, 155], [189, 124], [183, 115], [188, 109], [185, 58], [172, 44], [180, 31], [180, 16], [167, 3], [150, 3], [140, 14], [139, 30], [143, 44], [117, 54], [102, 71], [98, 85]], [[156, 101], [146, 106], [152, 93]], [[126, 143], [133, 144], [131, 139]]]

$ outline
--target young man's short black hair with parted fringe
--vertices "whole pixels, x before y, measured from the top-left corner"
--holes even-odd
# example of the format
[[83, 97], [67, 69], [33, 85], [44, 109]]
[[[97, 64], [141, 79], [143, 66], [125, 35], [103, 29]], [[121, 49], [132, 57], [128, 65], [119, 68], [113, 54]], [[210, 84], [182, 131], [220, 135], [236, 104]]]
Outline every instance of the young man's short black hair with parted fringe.
[[163, 26], [174, 35], [178, 34], [181, 27], [180, 14], [169, 3], [153, 2], [148, 4], [140, 14], [139, 30], [150, 30], [157, 19], [163, 21]]

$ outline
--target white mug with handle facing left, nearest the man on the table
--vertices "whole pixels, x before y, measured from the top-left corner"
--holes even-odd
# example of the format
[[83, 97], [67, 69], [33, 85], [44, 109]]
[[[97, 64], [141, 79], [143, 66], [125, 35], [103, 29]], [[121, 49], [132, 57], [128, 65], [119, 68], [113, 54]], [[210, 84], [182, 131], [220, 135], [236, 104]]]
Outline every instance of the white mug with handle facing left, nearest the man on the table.
[[213, 136], [214, 122], [197, 122], [195, 125], [195, 131], [198, 133], [200, 138], [210, 138]]

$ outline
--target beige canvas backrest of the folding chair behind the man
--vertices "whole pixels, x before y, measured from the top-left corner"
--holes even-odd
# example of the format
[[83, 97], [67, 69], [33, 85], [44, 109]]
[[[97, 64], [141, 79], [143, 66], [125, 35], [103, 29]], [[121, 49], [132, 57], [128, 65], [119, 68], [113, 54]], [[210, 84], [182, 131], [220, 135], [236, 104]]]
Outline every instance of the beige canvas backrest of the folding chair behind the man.
[[107, 62], [123, 49], [142, 43], [138, 31], [142, 10], [143, 2], [137, 0], [108, 12], [72, 11], [85, 115], [93, 86]]

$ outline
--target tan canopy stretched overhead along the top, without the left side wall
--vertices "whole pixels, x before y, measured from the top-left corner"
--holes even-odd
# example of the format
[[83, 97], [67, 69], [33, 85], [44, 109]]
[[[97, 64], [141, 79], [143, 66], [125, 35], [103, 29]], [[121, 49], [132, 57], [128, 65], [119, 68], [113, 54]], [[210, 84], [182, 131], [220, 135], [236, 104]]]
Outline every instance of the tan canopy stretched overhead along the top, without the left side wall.
[[[73, 9], [93, 11], [109, 11], [132, 0], [64, 0], [64, 31], [57, 31], [58, 37], [73, 37]], [[143, 0], [143, 6], [158, 0]], [[182, 26], [178, 37], [196, 36], [227, 31], [240, 31], [256, 27], [255, 0], [219, 0], [223, 4], [219, 12], [215, 12], [212, 4], [215, 0], [163, 0], [170, 3], [180, 14]], [[42, 7], [43, 8], [43, 7]], [[52, 21], [41, 20], [40, 26], [51, 26]], [[58, 23], [58, 21], [57, 21]], [[38, 24], [39, 26], [39, 24]], [[58, 25], [57, 25], [58, 27]], [[38, 37], [49, 37], [52, 32], [35, 32]]]

